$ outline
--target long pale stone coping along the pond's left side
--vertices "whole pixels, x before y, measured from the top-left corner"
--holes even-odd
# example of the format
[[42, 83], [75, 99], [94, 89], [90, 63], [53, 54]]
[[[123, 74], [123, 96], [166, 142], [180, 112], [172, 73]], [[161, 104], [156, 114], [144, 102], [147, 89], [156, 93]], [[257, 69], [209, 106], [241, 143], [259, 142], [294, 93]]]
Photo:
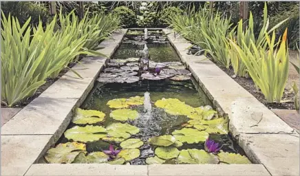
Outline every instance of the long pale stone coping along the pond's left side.
[[[111, 58], [126, 32], [114, 32], [98, 45], [103, 48], [98, 52]], [[1, 127], [1, 175], [24, 175], [55, 144], [107, 61], [104, 57], [83, 58], [72, 68], [83, 79], [67, 72]]]

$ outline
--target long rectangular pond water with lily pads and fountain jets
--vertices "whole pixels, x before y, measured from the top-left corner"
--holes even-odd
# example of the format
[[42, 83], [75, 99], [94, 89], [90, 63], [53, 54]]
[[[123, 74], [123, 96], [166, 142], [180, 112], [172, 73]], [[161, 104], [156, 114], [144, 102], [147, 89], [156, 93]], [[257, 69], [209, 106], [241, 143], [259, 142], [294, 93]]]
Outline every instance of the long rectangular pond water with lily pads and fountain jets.
[[[96, 111], [78, 110], [56, 147], [47, 151], [45, 162], [250, 164], [228, 135], [228, 119], [217, 115], [191, 74], [182, 71], [167, 39], [161, 32], [152, 36], [145, 42], [141, 34], [127, 34], [111, 61], [118, 64], [104, 69], [81, 105]], [[145, 43], [152, 65], [163, 65], [160, 74], [138, 72], [137, 59], [122, 62], [138, 58]], [[173, 79], [178, 76], [171, 76], [173, 70], [184, 76]], [[218, 143], [215, 148], [205, 144], [208, 138]], [[221, 151], [213, 152], [216, 148]]]

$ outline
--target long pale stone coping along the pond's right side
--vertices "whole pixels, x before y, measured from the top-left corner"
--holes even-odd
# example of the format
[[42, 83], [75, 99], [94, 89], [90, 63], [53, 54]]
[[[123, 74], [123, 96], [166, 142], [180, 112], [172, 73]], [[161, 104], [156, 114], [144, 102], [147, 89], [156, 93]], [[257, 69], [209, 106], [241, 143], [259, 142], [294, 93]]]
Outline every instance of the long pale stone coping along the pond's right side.
[[186, 54], [189, 41], [163, 31], [252, 162], [271, 175], [299, 175], [299, 134], [205, 56]]

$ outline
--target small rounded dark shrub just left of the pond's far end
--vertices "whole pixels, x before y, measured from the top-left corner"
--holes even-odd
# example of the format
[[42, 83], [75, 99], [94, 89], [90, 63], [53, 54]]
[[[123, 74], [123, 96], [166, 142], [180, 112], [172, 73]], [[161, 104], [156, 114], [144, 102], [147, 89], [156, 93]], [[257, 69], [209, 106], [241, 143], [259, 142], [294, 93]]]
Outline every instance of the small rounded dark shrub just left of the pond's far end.
[[112, 14], [118, 15], [120, 17], [121, 24], [126, 28], [130, 28], [136, 24], [136, 14], [133, 12], [133, 10], [125, 6], [115, 8], [112, 11]]

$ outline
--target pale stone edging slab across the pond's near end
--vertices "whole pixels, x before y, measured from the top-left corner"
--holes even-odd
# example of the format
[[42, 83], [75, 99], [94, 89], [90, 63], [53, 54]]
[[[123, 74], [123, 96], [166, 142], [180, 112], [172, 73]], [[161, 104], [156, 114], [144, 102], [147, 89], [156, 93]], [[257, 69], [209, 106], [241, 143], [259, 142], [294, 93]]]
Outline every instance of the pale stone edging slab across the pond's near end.
[[270, 176], [261, 164], [32, 164], [26, 176], [90, 175], [90, 176]]

